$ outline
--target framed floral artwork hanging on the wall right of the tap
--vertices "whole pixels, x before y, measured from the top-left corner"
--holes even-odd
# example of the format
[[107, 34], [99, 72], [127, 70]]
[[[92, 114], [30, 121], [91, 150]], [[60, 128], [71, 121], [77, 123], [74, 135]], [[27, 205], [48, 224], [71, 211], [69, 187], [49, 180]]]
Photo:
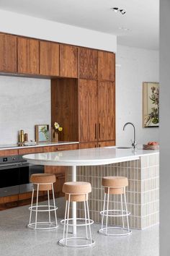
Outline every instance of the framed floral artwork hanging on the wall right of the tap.
[[159, 83], [143, 82], [143, 127], [159, 125]]

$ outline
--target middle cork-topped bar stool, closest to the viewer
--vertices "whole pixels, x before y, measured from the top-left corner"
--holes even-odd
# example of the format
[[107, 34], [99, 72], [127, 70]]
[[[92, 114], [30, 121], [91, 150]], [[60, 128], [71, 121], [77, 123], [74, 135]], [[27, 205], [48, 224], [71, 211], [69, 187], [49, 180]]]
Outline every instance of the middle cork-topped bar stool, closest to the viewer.
[[[66, 182], [63, 184], [63, 192], [66, 198], [66, 211], [64, 220], [61, 221], [61, 224], [63, 224], [63, 239], [58, 244], [66, 247], [89, 247], [94, 244], [94, 240], [91, 238], [91, 224], [94, 221], [89, 218], [88, 204], [88, 194], [91, 192], [91, 184], [89, 182]], [[76, 226], [86, 227], [86, 237], [68, 237], [68, 226], [73, 226], [73, 218], [69, 218], [70, 202], [84, 202], [85, 218], [76, 218]]]

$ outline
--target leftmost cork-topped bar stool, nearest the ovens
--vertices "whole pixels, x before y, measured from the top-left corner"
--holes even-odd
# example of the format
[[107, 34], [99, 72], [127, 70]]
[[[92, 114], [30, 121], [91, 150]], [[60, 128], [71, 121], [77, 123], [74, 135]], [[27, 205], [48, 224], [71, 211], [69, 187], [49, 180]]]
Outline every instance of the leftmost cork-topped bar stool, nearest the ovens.
[[[55, 197], [54, 197], [54, 188], [53, 184], [55, 183], [56, 178], [54, 174], [32, 174], [30, 178], [30, 182], [33, 183], [32, 188], [32, 200], [30, 210], [30, 223], [27, 225], [30, 229], [56, 229], [58, 227], [57, 214], [56, 210], [58, 209], [55, 206]], [[33, 206], [33, 198], [34, 192], [37, 190], [37, 200], [36, 205]], [[53, 205], [50, 205], [50, 193], [53, 192]], [[48, 205], [38, 205], [38, 194], [40, 191], [48, 192]], [[35, 222], [32, 223], [32, 212], [35, 212]], [[37, 213], [39, 212], [47, 212], [48, 213], [48, 221], [39, 221], [37, 222]], [[55, 222], [51, 221], [50, 213], [53, 212], [55, 216]]]

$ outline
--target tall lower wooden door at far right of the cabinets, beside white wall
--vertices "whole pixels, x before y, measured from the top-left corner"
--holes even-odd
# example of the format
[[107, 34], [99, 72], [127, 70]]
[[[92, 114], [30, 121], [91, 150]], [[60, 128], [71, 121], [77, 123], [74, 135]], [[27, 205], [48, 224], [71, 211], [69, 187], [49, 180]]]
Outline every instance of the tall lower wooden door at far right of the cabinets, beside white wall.
[[115, 140], [115, 85], [99, 82], [99, 141]]

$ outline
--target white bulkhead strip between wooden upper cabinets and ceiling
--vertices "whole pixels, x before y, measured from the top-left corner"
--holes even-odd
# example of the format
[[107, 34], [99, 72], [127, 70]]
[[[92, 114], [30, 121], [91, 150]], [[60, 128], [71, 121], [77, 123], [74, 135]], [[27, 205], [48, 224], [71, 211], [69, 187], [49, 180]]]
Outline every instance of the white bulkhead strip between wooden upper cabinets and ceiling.
[[106, 51], [116, 51], [117, 49], [116, 35], [6, 12], [1, 9], [0, 31]]

